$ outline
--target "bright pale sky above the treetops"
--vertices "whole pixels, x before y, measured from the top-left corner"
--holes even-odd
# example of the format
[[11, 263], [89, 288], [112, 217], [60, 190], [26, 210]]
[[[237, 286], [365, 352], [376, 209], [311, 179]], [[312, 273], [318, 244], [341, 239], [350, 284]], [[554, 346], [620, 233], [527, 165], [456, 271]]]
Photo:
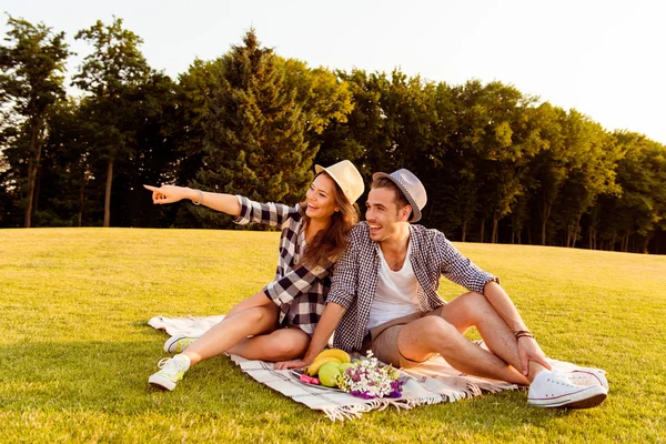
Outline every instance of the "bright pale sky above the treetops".
[[663, 0], [2, 0], [0, 11], [65, 31], [80, 54], [89, 49], [73, 41], [78, 30], [122, 18], [151, 67], [174, 79], [254, 27], [264, 46], [311, 67], [500, 80], [666, 144]]

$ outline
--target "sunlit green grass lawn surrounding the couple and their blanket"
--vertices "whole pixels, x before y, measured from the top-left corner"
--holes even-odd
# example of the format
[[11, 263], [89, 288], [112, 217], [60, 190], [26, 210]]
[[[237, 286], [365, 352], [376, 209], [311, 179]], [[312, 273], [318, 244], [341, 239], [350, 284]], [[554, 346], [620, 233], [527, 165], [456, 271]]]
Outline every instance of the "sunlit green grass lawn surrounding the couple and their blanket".
[[167, 336], [147, 321], [256, 292], [278, 233], [0, 230], [0, 442], [666, 442], [665, 256], [458, 248], [502, 278], [548, 355], [608, 371], [601, 407], [541, 410], [511, 392], [332, 423], [225, 356], [157, 392]]

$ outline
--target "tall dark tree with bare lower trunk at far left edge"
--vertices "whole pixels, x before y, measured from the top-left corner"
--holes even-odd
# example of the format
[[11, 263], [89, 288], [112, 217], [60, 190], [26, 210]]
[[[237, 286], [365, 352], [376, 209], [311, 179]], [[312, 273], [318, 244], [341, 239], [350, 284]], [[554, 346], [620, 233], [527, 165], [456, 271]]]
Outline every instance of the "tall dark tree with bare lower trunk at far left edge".
[[[0, 105], [3, 112], [18, 114], [20, 132], [14, 141], [18, 151], [16, 158], [27, 163], [26, 176], [21, 179], [24, 191], [24, 226], [32, 224], [34, 190], [44, 138], [49, 110], [64, 97], [61, 72], [70, 54], [64, 42], [64, 32], [53, 34], [43, 23], [37, 26], [11, 16], [11, 28], [4, 40], [9, 46], [0, 47]], [[16, 131], [3, 128], [4, 131]]]

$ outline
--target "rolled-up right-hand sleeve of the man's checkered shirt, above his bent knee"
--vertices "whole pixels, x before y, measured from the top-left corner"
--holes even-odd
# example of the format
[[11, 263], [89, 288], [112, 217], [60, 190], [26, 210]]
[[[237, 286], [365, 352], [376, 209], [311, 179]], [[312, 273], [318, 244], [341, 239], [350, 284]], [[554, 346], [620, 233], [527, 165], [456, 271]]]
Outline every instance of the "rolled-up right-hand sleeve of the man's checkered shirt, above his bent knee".
[[470, 291], [483, 294], [486, 283], [500, 283], [500, 278], [481, 270], [474, 262], [465, 258], [444, 234], [436, 238], [438, 250], [443, 252], [440, 272], [444, 278]]

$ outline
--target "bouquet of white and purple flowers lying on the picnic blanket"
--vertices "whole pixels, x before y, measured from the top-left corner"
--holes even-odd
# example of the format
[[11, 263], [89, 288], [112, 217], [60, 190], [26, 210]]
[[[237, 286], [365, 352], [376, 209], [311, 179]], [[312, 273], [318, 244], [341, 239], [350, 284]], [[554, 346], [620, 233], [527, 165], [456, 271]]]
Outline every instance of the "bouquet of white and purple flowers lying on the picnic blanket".
[[400, 372], [391, 365], [381, 366], [372, 351], [367, 351], [366, 360], [353, 364], [337, 376], [336, 384], [342, 391], [364, 400], [402, 396], [405, 382], [398, 380]]

